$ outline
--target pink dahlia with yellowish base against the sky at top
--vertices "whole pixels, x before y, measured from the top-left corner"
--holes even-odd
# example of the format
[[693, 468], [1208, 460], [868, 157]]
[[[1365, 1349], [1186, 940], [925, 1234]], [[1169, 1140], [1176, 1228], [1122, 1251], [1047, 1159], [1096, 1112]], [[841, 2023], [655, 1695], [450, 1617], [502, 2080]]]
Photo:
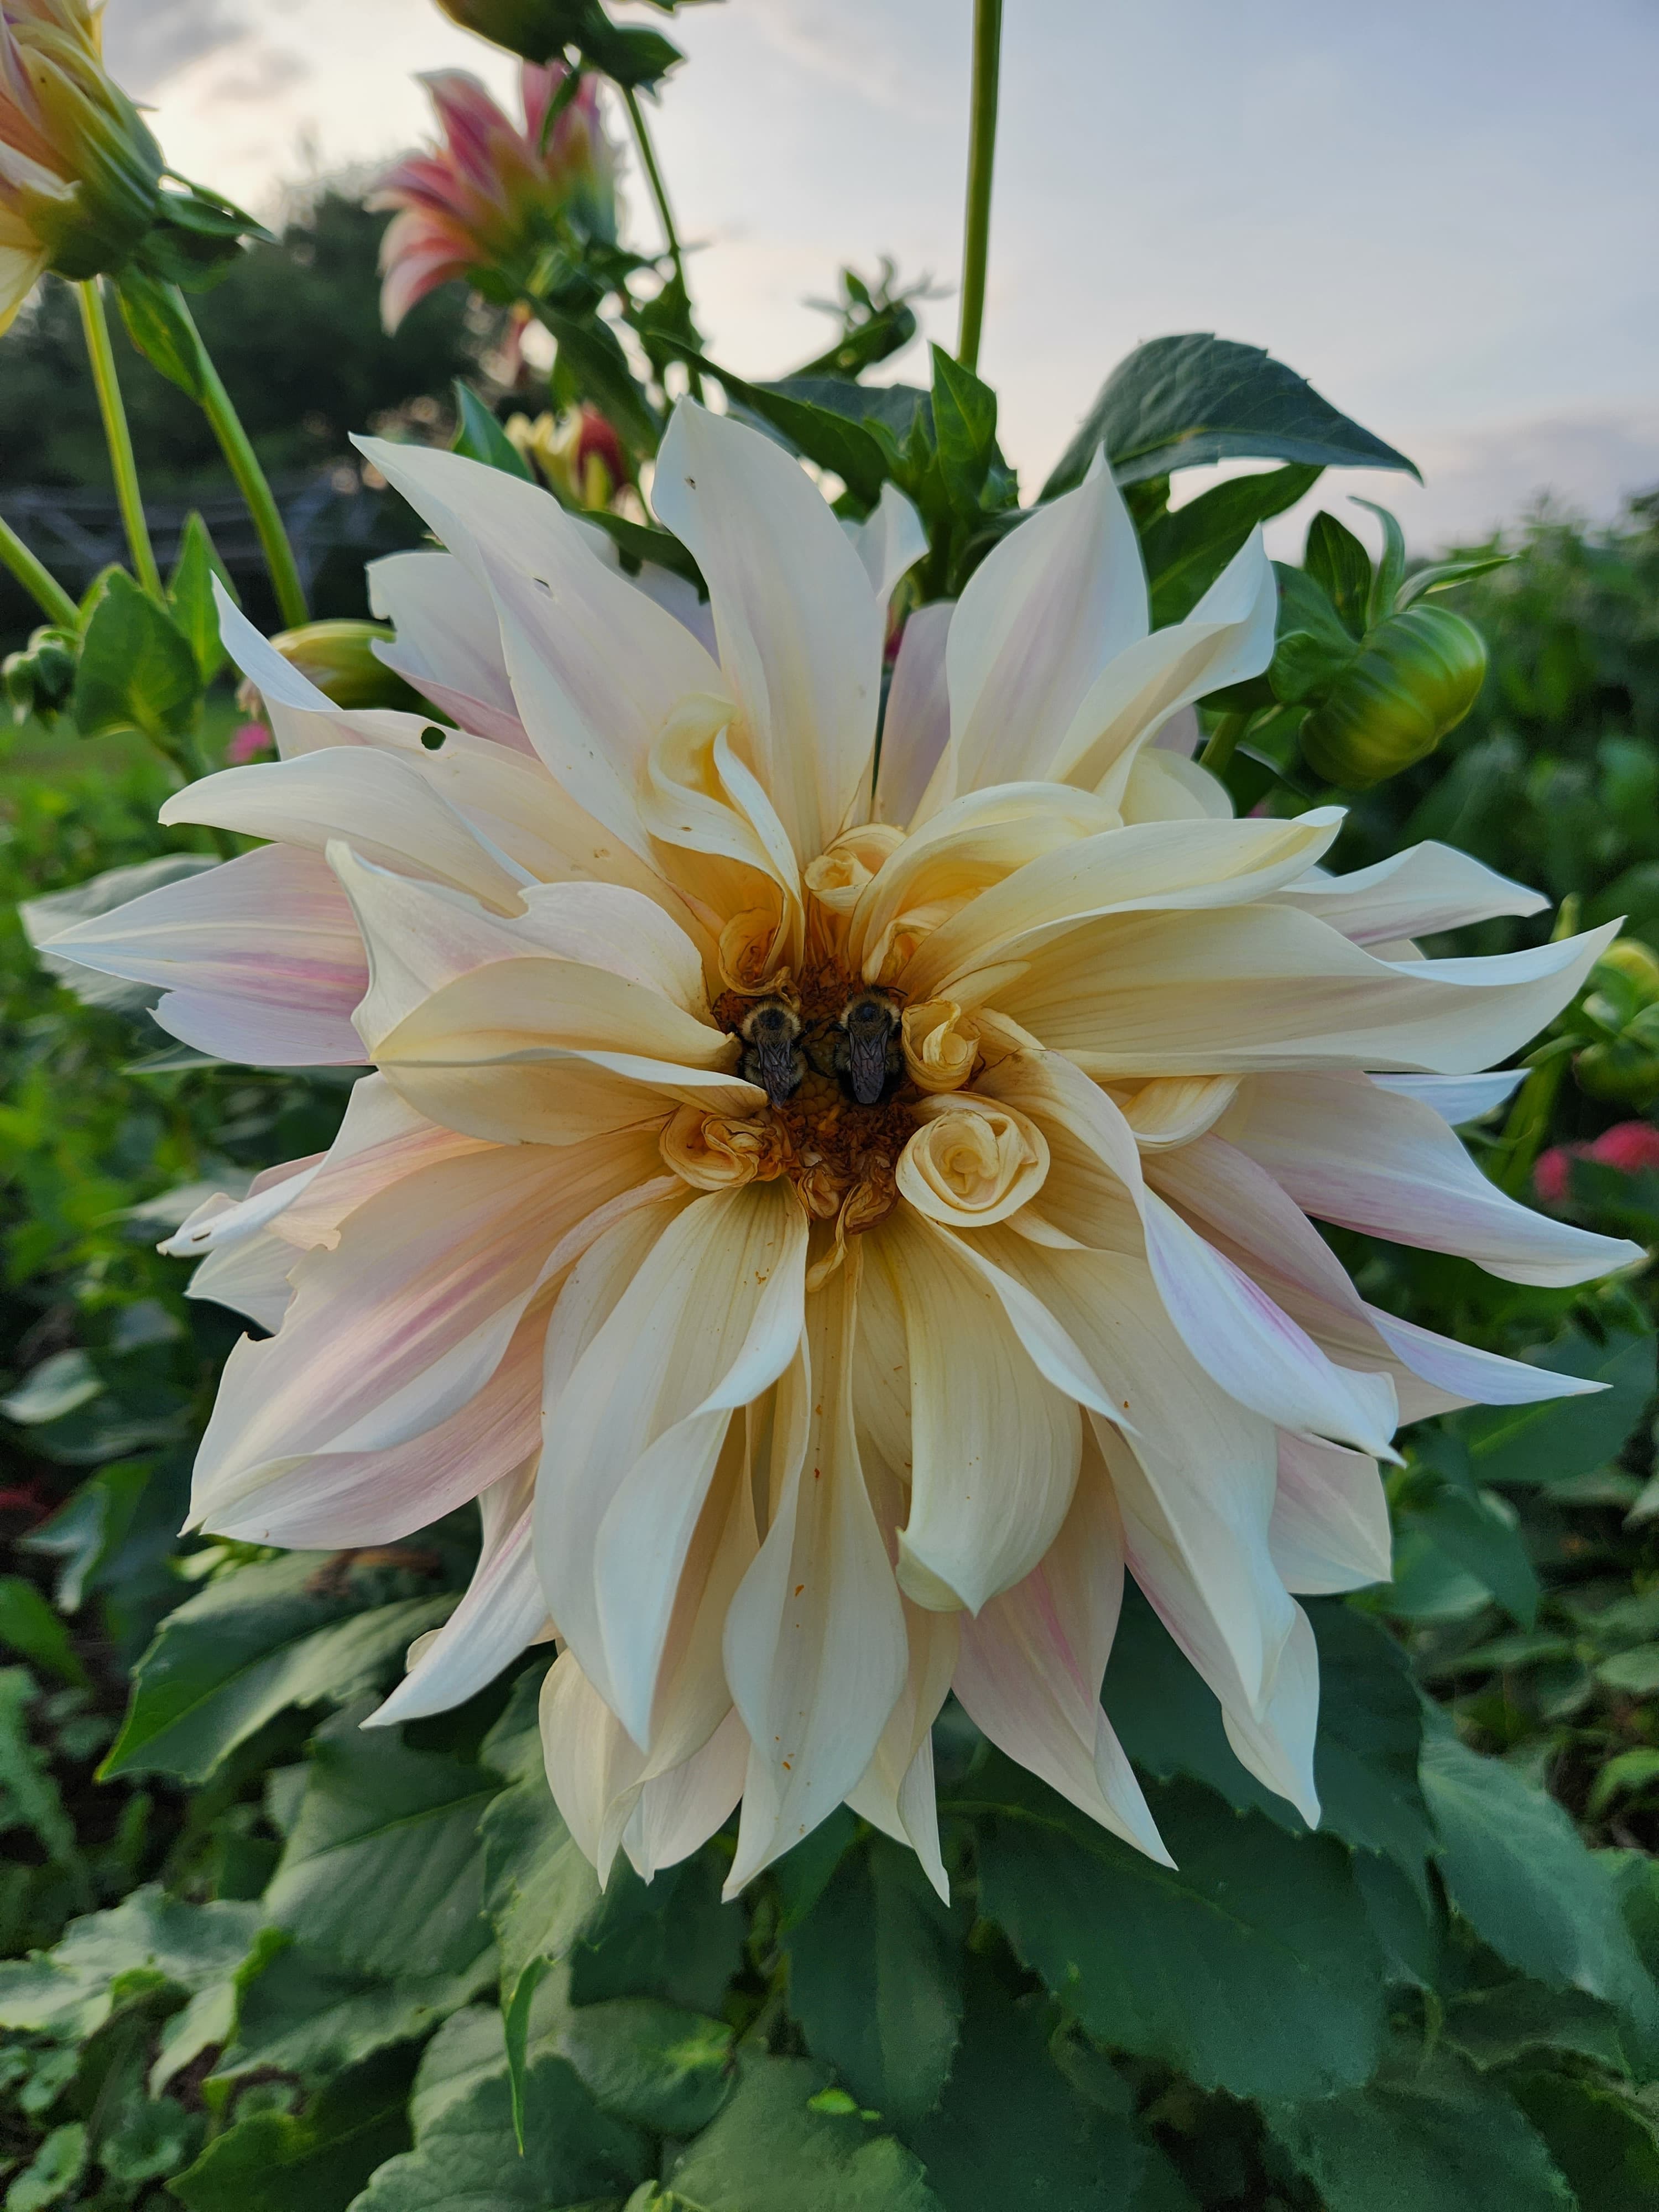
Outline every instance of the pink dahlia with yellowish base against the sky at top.
[[462, 276], [482, 290], [489, 279], [515, 290], [535, 257], [555, 243], [562, 223], [591, 237], [617, 230], [617, 157], [588, 77], [542, 146], [542, 122], [566, 71], [526, 62], [524, 128], [502, 115], [465, 69], [440, 69], [420, 82], [431, 93], [445, 144], [398, 161], [369, 197], [396, 208], [380, 241], [380, 316], [396, 330], [416, 301]]

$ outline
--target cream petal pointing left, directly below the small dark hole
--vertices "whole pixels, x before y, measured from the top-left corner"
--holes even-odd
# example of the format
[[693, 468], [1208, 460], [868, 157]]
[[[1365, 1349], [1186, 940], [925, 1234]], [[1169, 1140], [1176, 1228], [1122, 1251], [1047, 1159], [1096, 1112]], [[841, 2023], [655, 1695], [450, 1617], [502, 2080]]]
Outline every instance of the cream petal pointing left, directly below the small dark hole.
[[310, 852], [347, 838], [378, 867], [427, 876], [469, 891], [495, 914], [518, 914], [522, 874], [487, 852], [418, 770], [367, 745], [226, 768], [175, 792], [161, 821], [215, 823]]

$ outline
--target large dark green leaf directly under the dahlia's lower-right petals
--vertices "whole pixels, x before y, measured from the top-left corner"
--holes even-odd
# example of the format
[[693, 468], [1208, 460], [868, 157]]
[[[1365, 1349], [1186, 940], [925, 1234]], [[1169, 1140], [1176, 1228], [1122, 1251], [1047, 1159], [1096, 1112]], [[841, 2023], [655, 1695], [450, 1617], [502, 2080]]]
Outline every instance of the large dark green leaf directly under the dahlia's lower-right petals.
[[[1104, 2044], [1234, 2097], [1318, 2097], [1383, 2048], [1383, 1958], [1347, 1851], [1190, 1783], [1148, 1792], [1159, 1867], [995, 1756], [973, 1776], [980, 1909]], [[1272, 2020], [1272, 2035], [1261, 2022]]]

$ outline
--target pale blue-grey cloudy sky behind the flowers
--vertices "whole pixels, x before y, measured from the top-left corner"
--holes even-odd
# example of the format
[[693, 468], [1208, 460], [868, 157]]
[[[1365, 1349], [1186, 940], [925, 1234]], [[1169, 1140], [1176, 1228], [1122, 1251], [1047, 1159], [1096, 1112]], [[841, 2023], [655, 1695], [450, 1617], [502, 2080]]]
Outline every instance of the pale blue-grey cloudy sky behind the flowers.
[[[953, 292], [969, 20], [717, 0], [668, 24], [688, 60], [653, 126], [717, 358], [816, 352], [805, 301], [843, 261]], [[513, 86], [431, 0], [108, 0], [106, 42], [173, 166], [259, 212], [420, 139], [418, 71]], [[1214, 330], [1427, 480], [1327, 476], [1316, 502], [1383, 498], [1418, 546], [1544, 491], [1613, 515], [1659, 484], [1655, 88], [1652, 0], [1006, 0], [980, 369], [1009, 458], [1035, 484], [1133, 345]], [[655, 246], [637, 170], [630, 208]], [[922, 323], [951, 343], [956, 299]]]

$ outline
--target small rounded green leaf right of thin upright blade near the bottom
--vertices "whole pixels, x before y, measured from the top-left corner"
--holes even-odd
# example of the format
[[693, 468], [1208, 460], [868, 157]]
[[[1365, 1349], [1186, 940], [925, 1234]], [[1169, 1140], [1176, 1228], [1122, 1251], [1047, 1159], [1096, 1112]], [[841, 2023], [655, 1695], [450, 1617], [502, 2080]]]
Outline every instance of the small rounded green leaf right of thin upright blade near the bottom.
[[697, 2135], [732, 2086], [732, 2031], [659, 1997], [571, 2006], [551, 2048], [617, 2119], [653, 2135]]

